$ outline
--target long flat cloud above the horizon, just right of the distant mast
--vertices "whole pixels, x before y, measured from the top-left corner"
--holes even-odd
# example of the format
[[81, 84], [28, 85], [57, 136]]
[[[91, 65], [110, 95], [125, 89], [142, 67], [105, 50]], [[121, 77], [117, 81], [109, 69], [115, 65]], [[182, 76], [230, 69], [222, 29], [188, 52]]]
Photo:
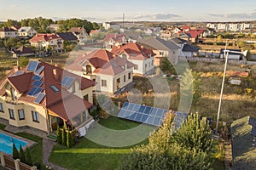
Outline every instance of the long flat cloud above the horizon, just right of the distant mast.
[[142, 14], [132, 17], [132, 19], [140, 19], [140, 20], [169, 20], [172, 18], [180, 17], [177, 14]]

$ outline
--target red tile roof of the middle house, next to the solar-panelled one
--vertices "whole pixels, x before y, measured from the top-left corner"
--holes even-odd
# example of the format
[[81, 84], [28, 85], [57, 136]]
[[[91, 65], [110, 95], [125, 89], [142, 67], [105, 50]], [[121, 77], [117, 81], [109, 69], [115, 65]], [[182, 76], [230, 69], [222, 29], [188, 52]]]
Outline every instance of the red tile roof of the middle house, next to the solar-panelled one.
[[98, 49], [88, 55], [81, 55], [70, 65], [67, 65], [67, 70], [83, 71], [83, 66], [89, 62], [90, 65], [96, 68], [94, 73], [104, 75], [117, 75], [124, 70], [125, 64], [128, 68], [134, 65], [121, 57], [116, 57], [113, 53], [106, 49]]

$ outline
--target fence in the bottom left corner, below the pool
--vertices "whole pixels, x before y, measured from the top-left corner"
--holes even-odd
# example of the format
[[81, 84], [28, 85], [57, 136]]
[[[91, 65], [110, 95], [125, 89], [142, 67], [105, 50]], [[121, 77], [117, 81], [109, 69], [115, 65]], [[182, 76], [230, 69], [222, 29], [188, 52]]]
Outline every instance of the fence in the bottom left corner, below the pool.
[[19, 159], [14, 160], [13, 158], [4, 155], [3, 152], [0, 152], [0, 162], [1, 166], [7, 169], [15, 170], [37, 170], [37, 167], [28, 166], [25, 163], [20, 162]]

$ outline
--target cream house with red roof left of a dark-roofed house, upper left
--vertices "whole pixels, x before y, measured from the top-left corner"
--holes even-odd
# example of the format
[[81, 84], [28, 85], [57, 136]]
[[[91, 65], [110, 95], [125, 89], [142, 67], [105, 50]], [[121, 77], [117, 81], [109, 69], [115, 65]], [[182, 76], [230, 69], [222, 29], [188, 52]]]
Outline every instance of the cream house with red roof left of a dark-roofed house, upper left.
[[63, 50], [63, 40], [61, 37], [56, 36], [53, 34], [36, 34], [32, 39], [29, 41], [33, 47], [36, 48], [45, 48], [49, 49], [52, 48], [58, 52]]

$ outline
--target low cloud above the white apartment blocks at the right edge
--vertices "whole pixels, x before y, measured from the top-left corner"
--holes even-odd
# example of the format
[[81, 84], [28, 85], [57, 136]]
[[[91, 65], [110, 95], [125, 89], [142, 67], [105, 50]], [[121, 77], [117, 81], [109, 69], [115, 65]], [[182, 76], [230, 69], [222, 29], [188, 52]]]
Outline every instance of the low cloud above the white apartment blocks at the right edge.
[[227, 19], [256, 19], [256, 10], [251, 13], [234, 13], [234, 14], [207, 14], [212, 17], [227, 18]]

